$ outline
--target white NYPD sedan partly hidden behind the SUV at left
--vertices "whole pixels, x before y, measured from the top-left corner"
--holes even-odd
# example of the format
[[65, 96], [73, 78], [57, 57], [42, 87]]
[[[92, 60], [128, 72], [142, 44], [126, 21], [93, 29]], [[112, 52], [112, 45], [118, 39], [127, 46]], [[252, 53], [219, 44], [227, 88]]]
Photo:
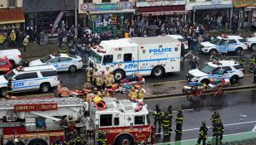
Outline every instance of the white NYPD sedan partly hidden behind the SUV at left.
[[29, 66], [38, 65], [53, 65], [57, 71], [71, 71], [80, 70], [83, 67], [83, 61], [80, 56], [68, 55], [65, 53], [52, 54], [43, 57], [39, 60], [33, 60]]

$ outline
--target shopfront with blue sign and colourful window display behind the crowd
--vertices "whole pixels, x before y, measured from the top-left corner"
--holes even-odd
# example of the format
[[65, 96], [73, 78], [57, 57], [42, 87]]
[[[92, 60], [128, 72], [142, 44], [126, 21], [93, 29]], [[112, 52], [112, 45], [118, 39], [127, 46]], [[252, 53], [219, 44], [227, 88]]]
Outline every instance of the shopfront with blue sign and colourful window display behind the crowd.
[[134, 12], [132, 2], [83, 3], [79, 8], [79, 15], [87, 15], [84, 19], [94, 32], [124, 31], [131, 25]]

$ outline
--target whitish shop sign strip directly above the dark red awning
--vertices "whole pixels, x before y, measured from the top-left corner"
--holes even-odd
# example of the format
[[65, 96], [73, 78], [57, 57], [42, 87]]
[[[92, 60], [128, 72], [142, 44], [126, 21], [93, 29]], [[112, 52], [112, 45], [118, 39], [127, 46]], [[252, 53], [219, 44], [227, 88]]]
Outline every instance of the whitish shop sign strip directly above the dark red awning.
[[173, 5], [184, 5], [185, 0], [167, 0], [167, 1], [148, 1], [148, 2], [137, 2], [136, 7], [158, 7], [158, 6], [173, 6]]

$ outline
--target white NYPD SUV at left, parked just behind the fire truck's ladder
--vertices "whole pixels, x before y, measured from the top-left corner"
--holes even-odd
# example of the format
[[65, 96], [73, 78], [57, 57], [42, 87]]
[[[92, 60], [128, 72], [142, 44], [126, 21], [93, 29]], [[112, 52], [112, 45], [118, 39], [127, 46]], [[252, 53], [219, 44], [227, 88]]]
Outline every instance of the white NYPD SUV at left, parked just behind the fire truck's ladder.
[[13, 92], [41, 90], [48, 92], [58, 85], [58, 75], [53, 65], [18, 67], [0, 75], [0, 94], [7, 95], [8, 80], [12, 80]]

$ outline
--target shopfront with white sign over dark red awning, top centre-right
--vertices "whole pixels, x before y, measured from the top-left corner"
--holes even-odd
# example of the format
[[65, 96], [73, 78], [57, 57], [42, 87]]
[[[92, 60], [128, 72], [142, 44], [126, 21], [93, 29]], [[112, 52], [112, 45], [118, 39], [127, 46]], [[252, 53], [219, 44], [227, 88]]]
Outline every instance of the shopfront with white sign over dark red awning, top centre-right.
[[185, 11], [185, 0], [138, 1], [137, 20], [148, 19], [149, 23], [156, 19], [168, 20], [171, 17], [185, 21], [188, 12]]

